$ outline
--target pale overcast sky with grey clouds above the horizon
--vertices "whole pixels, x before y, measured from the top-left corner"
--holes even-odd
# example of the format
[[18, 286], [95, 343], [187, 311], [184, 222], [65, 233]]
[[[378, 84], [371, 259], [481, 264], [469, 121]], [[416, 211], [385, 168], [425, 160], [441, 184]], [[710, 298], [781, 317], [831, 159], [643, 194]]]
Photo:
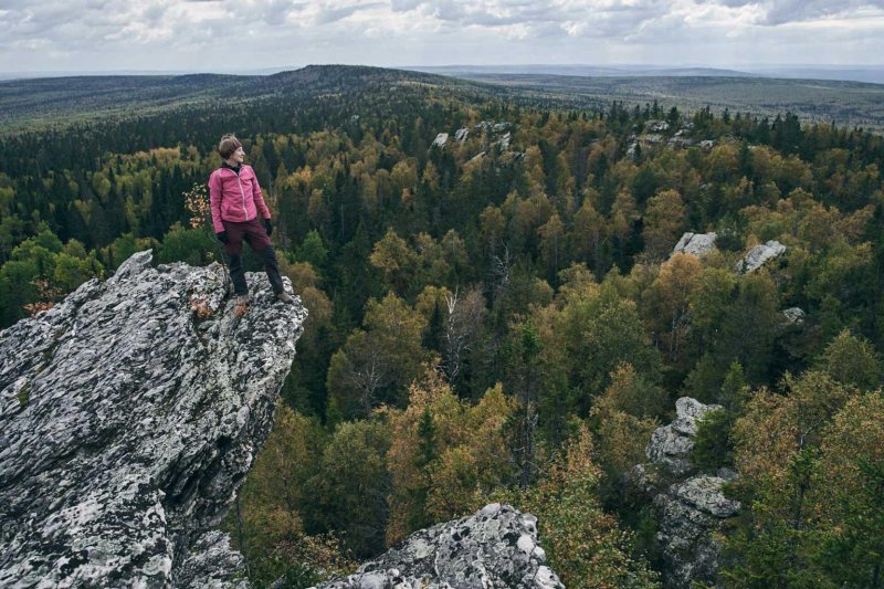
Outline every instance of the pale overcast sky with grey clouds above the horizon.
[[884, 63], [884, 0], [0, 0], [0, 72]]

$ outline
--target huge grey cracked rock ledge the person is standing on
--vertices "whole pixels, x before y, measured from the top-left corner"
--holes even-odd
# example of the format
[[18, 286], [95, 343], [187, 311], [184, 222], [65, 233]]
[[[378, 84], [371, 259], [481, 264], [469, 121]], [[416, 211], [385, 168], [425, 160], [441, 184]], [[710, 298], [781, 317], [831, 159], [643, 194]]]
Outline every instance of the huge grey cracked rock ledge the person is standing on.
[[0, 332], [0, 587], [236, 587], [212, 528], [266, 439], [306, 311], [150, 266]]

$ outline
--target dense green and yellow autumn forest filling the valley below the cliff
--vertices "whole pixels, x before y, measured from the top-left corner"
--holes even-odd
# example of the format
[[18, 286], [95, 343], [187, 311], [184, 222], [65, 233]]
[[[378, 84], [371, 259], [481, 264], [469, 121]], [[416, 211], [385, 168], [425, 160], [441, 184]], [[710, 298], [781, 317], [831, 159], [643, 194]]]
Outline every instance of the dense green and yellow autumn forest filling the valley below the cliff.
[[[135, 251], [217, 260], [188, 203], [220, 136], [242, 139], [309, 309], [224, 524], [255, 582], [306, 587], [506, 501], [566, 586], [657, 587], [653, 511], [622, 485], [691, 396], [722, 406], [696, 462], [739, 473], [722, 586], [884, 585], [884, 138], [382, 70], [297, 80], [0, 138], [2, 326]], [[687, 231], [715, 250], [673, 253]], [[740, 271], [770, 240], [785, 253]]]

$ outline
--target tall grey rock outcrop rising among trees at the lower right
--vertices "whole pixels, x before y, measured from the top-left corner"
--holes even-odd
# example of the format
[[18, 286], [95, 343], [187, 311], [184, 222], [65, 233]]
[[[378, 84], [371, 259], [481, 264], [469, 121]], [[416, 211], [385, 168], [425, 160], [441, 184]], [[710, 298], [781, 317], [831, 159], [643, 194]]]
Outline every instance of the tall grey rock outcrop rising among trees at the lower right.
[[666, 562], [667, 587], [715, 582], [720, 550], [715, 533], [739, 511], [739, 503], [722, 491], [736, 473], [727, 469], [715, 475], [697, 473], [691, 463], [698, 421], [718, 407], [678, 399], [675, 420], [657, 428], [645, 449], [650, 462], [635, 466], [630, 477], [633, 491], [651, 501], [657, 514], [656, 539]]

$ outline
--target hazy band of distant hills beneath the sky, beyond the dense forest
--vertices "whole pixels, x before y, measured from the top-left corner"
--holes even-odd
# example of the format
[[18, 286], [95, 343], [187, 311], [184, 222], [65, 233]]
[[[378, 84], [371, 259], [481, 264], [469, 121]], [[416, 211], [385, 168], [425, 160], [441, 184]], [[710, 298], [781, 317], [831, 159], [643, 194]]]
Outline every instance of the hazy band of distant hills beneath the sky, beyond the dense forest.
[[525, 73], [536, 67], [540, 66], [513, 66], [511, 73], [490, 73], [493, 66], [451, 66], [430, 69], [429, 73], [309, 65], [269, 75], [12, 80], [0, 82], [0, 132], [103, 117], [144, 117], [179, 108], [207, 116], [212, 109], [252, 101], [294, 105], [302, 99], [362, 90], [390, 92], [397, 84], [425, 84], [473, 96], [502, 96], [523, 104], [579, 109], [607, 109], [613, 101], [628, 105], [656, 101], [666, 108], [677, 106], [688, 112], [711, 106], [716, 112], [727, 108], [774, 117], [789, 111], [808, 122], [884, 130], [884, 85], [880, 84], [769, 78], [715, 69], [636, 69], [629, 75], [614, 75], [614, 69], [555, 66], [570, 73]]

